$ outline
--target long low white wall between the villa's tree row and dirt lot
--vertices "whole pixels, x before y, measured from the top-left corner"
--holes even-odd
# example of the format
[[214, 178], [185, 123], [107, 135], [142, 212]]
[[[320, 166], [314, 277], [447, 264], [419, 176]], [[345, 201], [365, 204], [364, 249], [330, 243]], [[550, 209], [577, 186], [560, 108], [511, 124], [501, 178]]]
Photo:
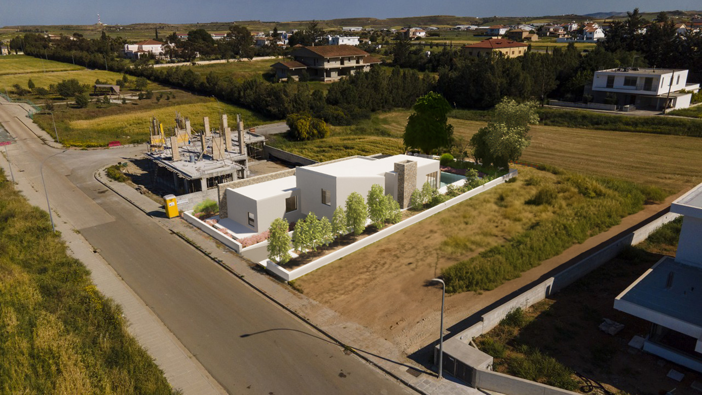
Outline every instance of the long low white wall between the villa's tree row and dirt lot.
[[441, 203], [438, 206], [434, 206], [432, 208], [429, 208], [428, 210], [425, 210], [417, 215], [414, 215], [413, 217], [409, 217], [402, 222], [398, 222], [395, 225], [391, 225], [390, 227], [387, 227], [387, 228], [381, 230], [380, 232], [377, 232], [376, 234], [368, 236], [361, 241], [357, 241], [357, 242], [351, 244], [350, 246], [340, 248], [339, 250], [336, 250], [329, 255], [321, 257], [318, 260], [313, 260], [312, 262], [308, 263], [307, 265], [303, 265], [301, 267], [298, 267], [297, 269], [293, 269], [291, 271], [288, 271], [287, 269], [284, 269], [284, 267], [281, 267], [274, 262], [269, 262], [266, 265], [266, 269], [270, 270], [270, 272], [272, 272], [276, 276], [279, 276], [281, 279], [284, 279], [285, 281], [291, 281], [291, 280], [297, 279], [298, 277], [301, 277], [307, 273], [313, 272], [314, 270], [317, 270], [320, 267], [323, 267], [324, 265], [329, 265], [331, 262], [334, 262], [335, 260], [338, 260], [342, 257], [345, 257], [346, 255], [349, 255], [350, 253], [354, 253], [355, 251], [360, 250], [361, 248], [369, 246], [372, 243], [375, 243], [376, 241], [378, 241], [380, 239], [383, 239], [387, 236], [390, 236], [391, 234], [393, 234], [395, 232], [398, 232], [406, 227], [409, 227], [411, 225], [416, 224], [417, 222], [420, 222], [421, 220], [424, 220], [428, 217], [431, 217], [432, 215], [435, 215], [436, 213], [439, 213], [440, 211], [445, 210], [446, 208], [449, 208], [449, 207], [454, 206], [458, 203], [461, 203], [462, 201], [468, 200], [468, 199], [472, 198], [473, 196], [480, 194], [481, 192], [485, 192], [486, 190], [491, 189], [492, 187], [496, 187], [497, 185], [502, 184], [506, 180], [509, 180], [510, 178], [516, 177], [516, 176], [517, 176], [517, 169], [512, 169], [512, 170], [510, 170], [509, 173], [503, 175], [500, 178], [496, 178], [495, 180], [487, 182], [486, 184], [481, 185], [475, 189], [471, 189], [470, 191], [465, 192], [465, 194], [461, 194], [460, 196], [456, 196], [453, 199], [449, 199], [448, 201], [445, 201], [444, 203]]

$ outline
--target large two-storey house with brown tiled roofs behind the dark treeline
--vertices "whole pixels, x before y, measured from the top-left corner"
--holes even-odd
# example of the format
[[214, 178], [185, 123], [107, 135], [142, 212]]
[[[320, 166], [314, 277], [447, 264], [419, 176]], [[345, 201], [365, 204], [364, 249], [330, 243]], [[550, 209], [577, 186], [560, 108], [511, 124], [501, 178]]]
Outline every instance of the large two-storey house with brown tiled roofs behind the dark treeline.
[[355, 46], [303, 46], [292, 53], [294, 60], [271, 65], [279, 79], [300, 79], [305, 71], [314, 81], [336, 81], [358, 71], [368, 71], [380, 60]]

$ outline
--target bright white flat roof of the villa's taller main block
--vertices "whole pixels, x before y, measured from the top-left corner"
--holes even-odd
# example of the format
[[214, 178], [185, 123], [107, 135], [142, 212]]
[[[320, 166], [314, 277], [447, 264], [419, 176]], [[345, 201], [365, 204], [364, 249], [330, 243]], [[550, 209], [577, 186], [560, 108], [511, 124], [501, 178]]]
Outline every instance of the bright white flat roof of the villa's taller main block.
[[383, 159], [366, 157], [352, 158], [326, 165], [305, 166], [305, 168], [317, 173], [333, 175], [334, 177], [367, 177], [369, 175], [382, 175], [390, 171], [395, 171], [395, 163], [400, 161], [415, 161], [417, 162], [417, 166], [439, 163], [439, 161], [435, 159], [400, 154]]

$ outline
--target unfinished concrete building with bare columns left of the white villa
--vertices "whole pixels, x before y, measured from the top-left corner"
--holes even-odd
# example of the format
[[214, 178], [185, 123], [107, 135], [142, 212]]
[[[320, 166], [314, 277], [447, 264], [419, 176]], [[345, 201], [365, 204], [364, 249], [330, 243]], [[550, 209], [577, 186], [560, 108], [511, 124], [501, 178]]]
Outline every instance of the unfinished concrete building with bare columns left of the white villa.
[[[187, 210], [205, 199], [217, 199], [217, 186], [249, 177], [247, 152], [257, 151], [265, 138], [244, 130], [237, 115], [237, 133], [220, 116], [220, 128], [210, 128], [208, 117], [204, 128], [192, 130], [190, 119], [176, 113], [176, 126], [164, 133], [157, 119], [152, 119], [149, 152], [154, 163], [154, 184], [178, 197], [178, 208]], [[168, 137], [166, 137], [168, 135]], [[248, 147], [248, 146], [253, 146]]]

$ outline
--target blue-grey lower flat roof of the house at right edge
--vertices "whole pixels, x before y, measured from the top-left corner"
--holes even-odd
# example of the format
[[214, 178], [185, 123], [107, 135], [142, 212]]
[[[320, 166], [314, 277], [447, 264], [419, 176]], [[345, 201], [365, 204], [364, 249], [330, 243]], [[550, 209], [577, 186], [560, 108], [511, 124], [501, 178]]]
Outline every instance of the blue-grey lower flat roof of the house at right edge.
[[616, 299], [702, 328], [702, 268], [663, 257]]

